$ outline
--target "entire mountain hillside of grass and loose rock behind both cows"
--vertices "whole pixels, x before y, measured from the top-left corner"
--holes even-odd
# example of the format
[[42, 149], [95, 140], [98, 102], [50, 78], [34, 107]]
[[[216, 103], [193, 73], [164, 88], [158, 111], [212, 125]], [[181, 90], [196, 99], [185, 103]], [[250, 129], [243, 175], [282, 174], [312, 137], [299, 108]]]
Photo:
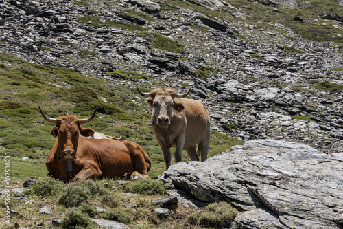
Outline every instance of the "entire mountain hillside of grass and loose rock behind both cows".
[[95, 104], [97, 131], [158, 151], [138, 86], [191, 88], [230, 138], [342, 152], [342, 12], [329, 0], [0, 1], [1, 151], [47, 154], [37, 105], [56, 118]]

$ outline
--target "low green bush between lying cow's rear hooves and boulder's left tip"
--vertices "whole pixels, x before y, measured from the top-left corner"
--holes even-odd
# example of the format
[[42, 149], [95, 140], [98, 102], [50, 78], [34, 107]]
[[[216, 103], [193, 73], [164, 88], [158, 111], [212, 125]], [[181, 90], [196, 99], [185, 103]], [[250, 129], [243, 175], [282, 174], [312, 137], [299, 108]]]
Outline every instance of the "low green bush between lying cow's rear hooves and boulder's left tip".
[[147, 195], [165, 194], [165, 186], [163, 182], [154, 179], [138, 179], [126, 185], [126, 190], [130, 193], [139, 193]]

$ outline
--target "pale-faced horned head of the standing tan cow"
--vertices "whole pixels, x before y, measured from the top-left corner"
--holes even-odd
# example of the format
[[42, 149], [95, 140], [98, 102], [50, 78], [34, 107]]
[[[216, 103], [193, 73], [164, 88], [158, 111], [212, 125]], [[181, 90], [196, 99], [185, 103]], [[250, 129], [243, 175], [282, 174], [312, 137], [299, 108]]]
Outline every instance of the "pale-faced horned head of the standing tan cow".
[[149, 93], [141, 92], [138, 87], [137, 90], [141, 96], [147, 98], [147, 102], [154, 107], [152, 115], [156, 118], [156, 124], [159, 127], [166, 128], [171, 122], [172, 113], [174, 111], [181, 112], [183, 107], [182, 102], [177, 102], [175, 98], [185, 98], [189, 94], [177, 94], [173, 89], [154, 89]]

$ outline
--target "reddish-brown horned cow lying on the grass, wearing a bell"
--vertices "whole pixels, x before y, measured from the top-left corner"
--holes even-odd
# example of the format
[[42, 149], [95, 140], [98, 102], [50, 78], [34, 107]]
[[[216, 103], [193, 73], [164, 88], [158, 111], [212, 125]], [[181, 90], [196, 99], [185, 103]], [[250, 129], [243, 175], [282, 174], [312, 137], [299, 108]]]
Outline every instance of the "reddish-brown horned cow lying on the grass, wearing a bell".
[[[39, 106], [38, 106], [39, 107]], [[48, 157], [47, 170], [49, 175], [56, 179], [66, 181], [67, 161], [72, 163], [71, 177], [74, 180], [88, 178], [114, 178], [130, 174], [130, 179], [147, 178], [150, 170], [150, 158], [134, 142], [119, 141], [114, 139], [86, 139], [79, 135], [93, 136], [91, 128], [82, 128], [81, 124], [91, 122], [93, 116], [79, 119], [75, 116], [61, 116], [54, 119], [43, 118], [56, 124], [51, 129], [51, 134], [58, 137]]]

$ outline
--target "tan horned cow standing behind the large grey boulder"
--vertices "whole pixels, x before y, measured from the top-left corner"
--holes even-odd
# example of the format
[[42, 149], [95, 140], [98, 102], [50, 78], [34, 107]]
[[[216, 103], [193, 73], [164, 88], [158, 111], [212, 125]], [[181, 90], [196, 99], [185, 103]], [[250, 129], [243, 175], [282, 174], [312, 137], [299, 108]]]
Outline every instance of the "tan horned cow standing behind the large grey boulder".
[[[189, 158], [202, 162], [207, 159], [210, 144], [209, 111], [199, 100], [187, 99], [189, 94], [177, 94], [173, 89], [154, 89], [149, 93], [137, 90], [153, 107], [152, 128], [165, 157], [167, 169], [170, 166], [170, 149], [175, 147], [175, 160], [182, 160], [182, 149]], [[198, 144], [198, 152], [196, 151]]]

